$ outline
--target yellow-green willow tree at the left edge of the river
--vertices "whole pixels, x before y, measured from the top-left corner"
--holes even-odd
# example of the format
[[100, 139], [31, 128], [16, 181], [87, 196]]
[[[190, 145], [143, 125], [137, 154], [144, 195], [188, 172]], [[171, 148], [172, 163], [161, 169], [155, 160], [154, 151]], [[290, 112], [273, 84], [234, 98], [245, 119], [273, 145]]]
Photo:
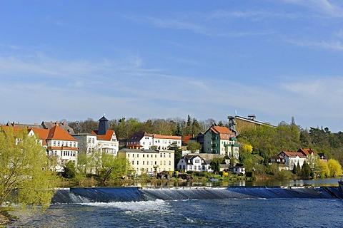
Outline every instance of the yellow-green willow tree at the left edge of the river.
[[0, 129], [0, 205], [16, 202], [48, 207], [51, 190], [46, 152], [26, 129]]

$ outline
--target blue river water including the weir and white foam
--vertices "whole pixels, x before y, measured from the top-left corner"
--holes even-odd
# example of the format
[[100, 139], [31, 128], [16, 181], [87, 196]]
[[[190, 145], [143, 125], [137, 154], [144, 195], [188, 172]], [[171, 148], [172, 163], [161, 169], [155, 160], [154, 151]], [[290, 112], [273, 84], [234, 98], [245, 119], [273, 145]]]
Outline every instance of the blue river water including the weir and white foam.
[[8, 227], [343, 227], [343, 200], [332, 197], [338, 187], [68, 191], [59, 192], [69, 195], [66, 203], [17, 212], [20, 219]]

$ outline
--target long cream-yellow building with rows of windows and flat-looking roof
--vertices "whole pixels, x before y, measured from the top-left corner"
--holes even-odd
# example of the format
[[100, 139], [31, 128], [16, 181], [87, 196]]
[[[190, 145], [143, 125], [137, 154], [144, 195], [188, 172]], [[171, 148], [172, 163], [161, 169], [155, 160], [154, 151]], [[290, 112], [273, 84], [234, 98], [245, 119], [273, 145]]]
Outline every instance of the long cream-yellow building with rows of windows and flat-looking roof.
[[174, 171], [174, 150], [121, 149], [118, 157], [129, 160], [132, 170], [127, 170], [127, 174]]

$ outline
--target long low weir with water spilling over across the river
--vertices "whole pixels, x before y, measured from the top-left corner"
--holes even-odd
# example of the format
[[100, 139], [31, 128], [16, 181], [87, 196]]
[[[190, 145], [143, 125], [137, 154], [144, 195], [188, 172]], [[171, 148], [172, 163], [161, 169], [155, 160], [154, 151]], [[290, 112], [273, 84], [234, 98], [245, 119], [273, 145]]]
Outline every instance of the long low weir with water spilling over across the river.
[[343, 193], [339, 187], [74, 187], [57, 190], [52, 203], [273, 198], [343, 199]]

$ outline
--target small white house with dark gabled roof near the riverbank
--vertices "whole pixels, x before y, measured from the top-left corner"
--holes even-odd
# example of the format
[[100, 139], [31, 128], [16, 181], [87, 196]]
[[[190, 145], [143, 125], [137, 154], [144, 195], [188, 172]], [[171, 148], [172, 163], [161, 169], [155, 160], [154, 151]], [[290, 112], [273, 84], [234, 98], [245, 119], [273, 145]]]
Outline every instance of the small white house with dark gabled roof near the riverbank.
[[184, 155], [179, 162], [177, 162], [177, 168], [179, 170], [187, 171], [207, 171], [212, 172], [209, 160], [204, 160], [204, 158], [199, 155]]

